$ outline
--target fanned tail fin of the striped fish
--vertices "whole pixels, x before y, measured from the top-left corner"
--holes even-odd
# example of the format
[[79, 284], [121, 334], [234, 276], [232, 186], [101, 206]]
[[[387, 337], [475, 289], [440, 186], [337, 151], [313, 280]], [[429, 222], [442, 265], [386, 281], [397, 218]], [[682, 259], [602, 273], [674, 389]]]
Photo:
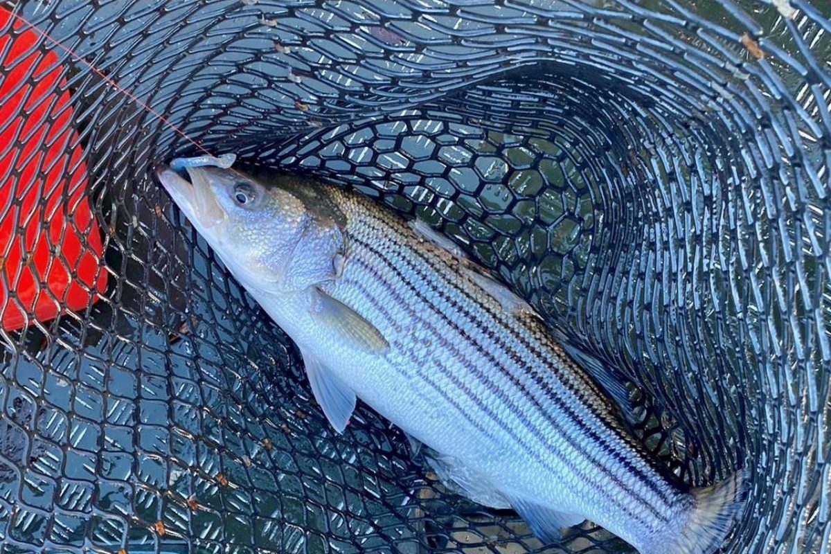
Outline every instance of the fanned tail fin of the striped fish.
[[748, 474], [737, 471], [712, 487], [692, 491], [693, 507], [676, 544], [666, 552], [711, 554], [723, 546], [733, 522], [745, 511]]

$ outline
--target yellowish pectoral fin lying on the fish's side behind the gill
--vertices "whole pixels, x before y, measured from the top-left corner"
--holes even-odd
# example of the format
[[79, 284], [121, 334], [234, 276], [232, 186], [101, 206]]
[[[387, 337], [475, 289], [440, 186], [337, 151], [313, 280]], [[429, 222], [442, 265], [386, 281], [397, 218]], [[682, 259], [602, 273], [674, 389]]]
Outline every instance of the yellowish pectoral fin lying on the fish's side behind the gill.
[[383, 354], [390, 349], [381, 331], [343, 302], [315, 288], [312, 311], [323, 325], [358, 350]]

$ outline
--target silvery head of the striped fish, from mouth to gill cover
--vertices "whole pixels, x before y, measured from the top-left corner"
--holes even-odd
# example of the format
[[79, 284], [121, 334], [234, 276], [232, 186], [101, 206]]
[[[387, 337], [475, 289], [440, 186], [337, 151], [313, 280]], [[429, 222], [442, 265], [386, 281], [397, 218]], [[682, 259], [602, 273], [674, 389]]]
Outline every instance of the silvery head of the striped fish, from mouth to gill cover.
[[311, 190], [312, 182], [263, 179], [218, 167], [185, 170], [187, 179], [169, 167], [157, 174], [185, 217], [249, 291], [295, 292], [332, 278], [342, 235], [315, 201], [319, 194]]

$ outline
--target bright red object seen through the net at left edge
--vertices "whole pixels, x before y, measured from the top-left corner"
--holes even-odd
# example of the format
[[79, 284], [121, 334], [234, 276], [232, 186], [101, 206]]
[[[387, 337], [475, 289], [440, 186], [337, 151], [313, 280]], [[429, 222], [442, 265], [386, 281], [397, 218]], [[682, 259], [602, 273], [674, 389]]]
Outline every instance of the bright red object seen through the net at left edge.
[[[10, 14], [0, 8], [0, 27]], [[19, 27], [15, 25], [14, 27]], [[36, 32], [0, 37], [0, 310], [18, 329], [95, 302], [106, 288], [101, 234], [86, 198], [86, 164], [70, 94]]]

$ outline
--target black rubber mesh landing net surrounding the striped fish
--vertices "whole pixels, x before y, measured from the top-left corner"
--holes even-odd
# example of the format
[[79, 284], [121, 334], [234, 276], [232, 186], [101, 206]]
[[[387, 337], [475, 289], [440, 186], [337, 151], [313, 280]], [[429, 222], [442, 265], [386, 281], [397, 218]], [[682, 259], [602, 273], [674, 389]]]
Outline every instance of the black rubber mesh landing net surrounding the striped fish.
[[724, 552], [829, 552], [829, 2], [0, 5], [2, 552], [632, 552], [333, 433], [154, 178], [199, 148], [425, 218], [688, 483], [748, 468]]

